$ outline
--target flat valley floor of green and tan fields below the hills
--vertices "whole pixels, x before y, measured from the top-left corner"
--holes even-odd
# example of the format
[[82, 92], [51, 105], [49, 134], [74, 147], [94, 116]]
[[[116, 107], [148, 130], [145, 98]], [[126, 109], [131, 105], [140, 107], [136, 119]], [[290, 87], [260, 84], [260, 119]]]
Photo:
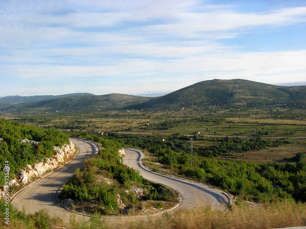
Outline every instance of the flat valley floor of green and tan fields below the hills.
[[[261, 150], [236, 152], [219, 159], [254, 163], [295, 163], [297, 153], [306, 152], [306, 111], [289, 108], [223, 109], [196, 107], [179, 111], [94, 111], [81, 115], [41, 114], [9, 115], [3, 118], [26, 125], [63, 131], [91, 131], [93, 133], [122, 133], [144, 135], [186, 135], [194, 139], [194, 147], [219, 144], [221, 136], [276, 140], [286, 138], [290, 144]], [[205, 139], [205, 140], [202, 140]]]

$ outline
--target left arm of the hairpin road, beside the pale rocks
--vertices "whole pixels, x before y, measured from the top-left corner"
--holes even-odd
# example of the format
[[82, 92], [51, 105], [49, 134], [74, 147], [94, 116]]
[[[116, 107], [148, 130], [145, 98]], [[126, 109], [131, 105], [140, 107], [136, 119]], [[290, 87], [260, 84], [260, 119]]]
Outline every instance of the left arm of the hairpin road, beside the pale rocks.
[[[99, 152], [96, 144], [82, 139], [71, 138], [80, 149], [79, 154], [62, 168], [29, 185], [12, 200], [11, 204], [18, 210], [24, 207], [26, 213], [35, 213], [40, 209], [47, 209], [50, 215], [57, 215], [69, 221], [71, 212], [63, 209], [57, 202], [56, 193], [62, 184], [74, 174], [76, 168], [84, 166], [84, 159]], [[83, 216], [76, 215], [76, 219]]]

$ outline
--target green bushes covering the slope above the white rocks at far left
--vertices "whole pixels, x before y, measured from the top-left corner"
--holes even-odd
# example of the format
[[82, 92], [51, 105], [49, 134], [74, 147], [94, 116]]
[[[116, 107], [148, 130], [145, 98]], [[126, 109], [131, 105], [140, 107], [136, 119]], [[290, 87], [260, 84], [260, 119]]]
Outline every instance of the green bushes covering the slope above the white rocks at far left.
[[[42, 129], [19, 122], [10, 122], [0, 119], [0, 163], [1, 168], [5, 161], [9, 161], [10, 175], [14, 176], [18, 169], [27, 164], [51, 157], [53, 146], [62, 146], [69, 143], [69, 135], [57, 131], [55, 128]], [[28, 139], [40, 142], [37, 146], [21, 143], [18, 140]], [[4, 173], [0, 172], [0, 184], [4, 184]]]

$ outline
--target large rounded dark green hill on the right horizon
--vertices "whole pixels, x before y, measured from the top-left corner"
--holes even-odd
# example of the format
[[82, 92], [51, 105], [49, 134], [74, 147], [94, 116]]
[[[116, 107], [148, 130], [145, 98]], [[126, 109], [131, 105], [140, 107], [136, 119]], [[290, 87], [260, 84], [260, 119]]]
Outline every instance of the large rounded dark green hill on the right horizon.
[[179, 89], [156, 99], [137, 104], [133, 108], [170, 108], [226, 105], [305, 105], [306, 86], [276, 86], [244, 79], [207, 80]]

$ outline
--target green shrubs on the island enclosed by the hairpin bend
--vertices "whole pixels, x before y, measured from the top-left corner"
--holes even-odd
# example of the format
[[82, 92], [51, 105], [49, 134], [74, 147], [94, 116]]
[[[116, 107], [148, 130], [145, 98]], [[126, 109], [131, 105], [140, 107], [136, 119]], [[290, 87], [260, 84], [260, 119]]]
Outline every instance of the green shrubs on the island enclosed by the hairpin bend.
[[[88, 137], [99, 142], [102, 150], [98, 156], [86, 160], [81, 171], [76, 169], [75, 175], [64, 184], [60, 194], [62, 199], [70, 198], [78, 203], [95, 202], [96, 207], [89, 211], [98, 211], [101, 214], [118, 213], [118, 196], [126, 205], [137, 205], [140, 200], [136, 194], [132, 191], [126, 192], [135, 186], [145, 190], [141, 201], [175, 201], [175, 195], [169, 188], [144, 180], [138, 171], [122, 164], [118, 154], [121, 144], [118, 141], [94, 135]], [[98, 177], [106, 177], [114, 180], [114, 183], [108, 185], [99, 182]]]

